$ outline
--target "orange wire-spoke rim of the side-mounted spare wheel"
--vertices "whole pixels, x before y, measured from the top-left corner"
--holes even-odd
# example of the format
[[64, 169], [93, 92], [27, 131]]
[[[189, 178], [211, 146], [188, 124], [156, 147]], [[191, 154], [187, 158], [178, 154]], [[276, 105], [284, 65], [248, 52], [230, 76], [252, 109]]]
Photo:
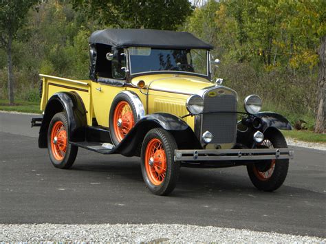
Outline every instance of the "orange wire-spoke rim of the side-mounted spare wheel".
[[126, 101], [118, 102], [113, 113], [113, 129], [118, 142], [122, 141], [134, 124], [135, 119], [129, 103]]

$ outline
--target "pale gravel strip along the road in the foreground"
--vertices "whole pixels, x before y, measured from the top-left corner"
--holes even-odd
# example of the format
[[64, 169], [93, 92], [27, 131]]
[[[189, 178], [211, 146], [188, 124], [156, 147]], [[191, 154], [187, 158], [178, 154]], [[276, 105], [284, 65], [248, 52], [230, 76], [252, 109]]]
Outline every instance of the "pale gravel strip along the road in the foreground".
[[325, 243], [313, 236], [294, 236], [197, 225], [2, 225], [0, 242], [133, 242], [133, 243]]

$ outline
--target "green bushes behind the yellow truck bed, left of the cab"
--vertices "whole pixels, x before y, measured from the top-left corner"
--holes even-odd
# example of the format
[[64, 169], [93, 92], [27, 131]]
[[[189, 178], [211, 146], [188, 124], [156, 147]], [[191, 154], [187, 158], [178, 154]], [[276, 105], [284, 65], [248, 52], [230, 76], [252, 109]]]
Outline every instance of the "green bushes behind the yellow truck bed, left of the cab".
[[[37, 100], [40, 73], [87, 79], [89, 34], [101, 27], [75, 12], [67, 1], [42, 1], [37, 10], [30, 10], [26, 26], [17, 32], [19, 38], [12, 43], [15, 97], [23, 100]], [[6, 65], [6, 51], [0, 49], [3, 99], [8, 92]]]

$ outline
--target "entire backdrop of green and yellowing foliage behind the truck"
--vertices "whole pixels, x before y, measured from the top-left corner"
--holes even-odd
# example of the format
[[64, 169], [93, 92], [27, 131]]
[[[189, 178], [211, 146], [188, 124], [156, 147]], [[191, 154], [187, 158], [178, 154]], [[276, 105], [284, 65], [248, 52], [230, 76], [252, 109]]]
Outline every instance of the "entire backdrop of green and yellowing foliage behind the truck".
[[[1, 19], [6, 6], [35, 1], [0, 0], [1, 38], [1, 28], [8, 27]], [[257, 93], [263, 110], [314, 127], [317, 49], [326, 33], [326, 1], [210, 0], [193, 9], [188, 0], [43, 0], [37, 11], [29, 9], [14, 19], [27, 16], [12, 43], [16, 98], [39, 99], [39, 73], [88, 79], [88, 38], [94, 30], [178, 28], [215, 45], [212, 54], [221, 59], [215, 77], [238, 92], [239, 103]], [[3, 99], [8, 92], [7, 63], [6, 49], [0, 49]]]

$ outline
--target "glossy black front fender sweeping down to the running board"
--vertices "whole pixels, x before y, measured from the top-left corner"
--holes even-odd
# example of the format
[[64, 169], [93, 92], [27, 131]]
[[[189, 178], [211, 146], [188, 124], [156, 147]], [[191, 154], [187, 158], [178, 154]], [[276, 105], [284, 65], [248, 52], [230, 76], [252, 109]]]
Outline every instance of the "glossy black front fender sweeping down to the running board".
[[170, 113], [152, 113], [144, 116], [135, 124], [133, 129], [118, 144], [115, 153], [127, 157], [140, 156], [142, 141], [146, 133], [157, 127], [169, 131], [175, 137], [177, 146], [180, 149], [202, 148], [195, 133], [184, 120]]

